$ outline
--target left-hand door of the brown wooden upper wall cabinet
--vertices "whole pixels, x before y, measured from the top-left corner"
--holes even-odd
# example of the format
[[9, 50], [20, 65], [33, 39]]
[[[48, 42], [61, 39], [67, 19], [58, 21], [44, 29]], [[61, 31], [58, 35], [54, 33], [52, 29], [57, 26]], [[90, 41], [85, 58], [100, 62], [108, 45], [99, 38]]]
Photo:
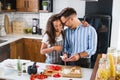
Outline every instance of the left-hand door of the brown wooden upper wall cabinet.
[[27, 8], [27, 0], [16, 0], [17, 11], [26, 11]]

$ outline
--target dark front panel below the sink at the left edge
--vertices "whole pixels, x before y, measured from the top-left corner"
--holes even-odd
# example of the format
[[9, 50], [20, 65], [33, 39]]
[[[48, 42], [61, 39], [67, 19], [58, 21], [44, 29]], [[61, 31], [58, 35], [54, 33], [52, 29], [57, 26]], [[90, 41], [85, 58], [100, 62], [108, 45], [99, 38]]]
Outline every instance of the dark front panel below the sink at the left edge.
[[10, 45], [0, 47], [0, 62], [10, 58]]

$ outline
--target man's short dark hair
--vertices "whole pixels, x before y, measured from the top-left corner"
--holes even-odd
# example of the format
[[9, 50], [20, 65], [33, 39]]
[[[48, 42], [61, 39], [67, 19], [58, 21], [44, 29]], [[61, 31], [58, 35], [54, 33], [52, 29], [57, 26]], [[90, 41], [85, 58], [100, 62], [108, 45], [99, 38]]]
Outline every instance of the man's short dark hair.
[[59, 17], [69, 17], [70, 15], [73, 14], [77, 14], [77, 12], [75, 11], [75, 9], [71, 8], [71, 7], [67, 7], [64, 8], [60, 13], [59, 13]]

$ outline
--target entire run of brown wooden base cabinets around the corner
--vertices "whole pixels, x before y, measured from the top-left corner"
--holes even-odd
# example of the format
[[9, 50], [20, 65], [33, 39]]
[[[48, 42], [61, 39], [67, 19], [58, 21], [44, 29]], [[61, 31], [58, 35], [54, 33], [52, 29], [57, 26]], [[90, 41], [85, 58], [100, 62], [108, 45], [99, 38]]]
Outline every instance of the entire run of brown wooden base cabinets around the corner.
[[27, 59], [36, 62], [45, 62], [45, 55], [40, 54], [41, 40], [23, 38], [10, 43], [10, 58]]

